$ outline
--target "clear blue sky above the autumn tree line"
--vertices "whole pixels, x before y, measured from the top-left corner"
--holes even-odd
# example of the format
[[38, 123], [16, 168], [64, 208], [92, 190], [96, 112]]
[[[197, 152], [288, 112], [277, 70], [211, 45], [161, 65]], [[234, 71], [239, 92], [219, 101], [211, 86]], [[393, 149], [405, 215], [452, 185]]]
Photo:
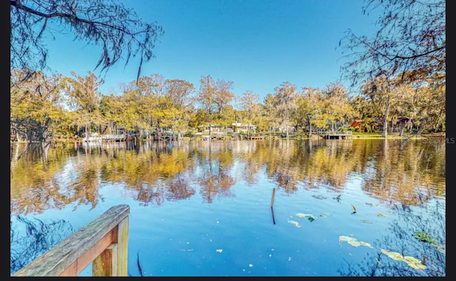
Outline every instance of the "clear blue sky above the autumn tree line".
[[[199, 88], [201, 76], [233, 81], [233, 92], [260, 97], [288, 81], [324, 88], [340, 79], [343, 54], [338, 43], [348, 29], [375, 34], [377, 16], [362, 13], [363, 0], [125, 0], [145, 21], [165, 31], [142, 75], [182, 79]], [[72, 41], [71, 34], [46, 42], [48, 66], [71, 76], [94, 70], [101, 48]], [[138, 60], [110, 68], [100, 87], [120, 93], [119, 83], [134, 81]], [[341, 81], [348, 86], [347, 81]]]

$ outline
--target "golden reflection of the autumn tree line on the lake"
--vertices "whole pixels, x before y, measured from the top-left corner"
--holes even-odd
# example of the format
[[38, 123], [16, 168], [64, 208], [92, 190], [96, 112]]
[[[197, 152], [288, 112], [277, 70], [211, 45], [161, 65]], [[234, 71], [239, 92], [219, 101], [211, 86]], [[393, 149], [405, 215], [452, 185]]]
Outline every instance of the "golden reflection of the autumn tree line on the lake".
[[[21, 153], [21, 145], [14, 146]], [[233, 185], [256, 185], [264, 169], [277, 189], [341, 191], [350, 175], [369, 196], [422, 205], [445, 197], [445, 143], [420, 141], [236, 141], [74, 144], [48, 150], [48, 161], [11, 160], [11, 213], [41, 213], [103, 200], [104, 183], [122, 185], [144, 205], [202, 195], [233, 197]], [[33, 176], [31, 176], [33, 175]], [[75, 207], [75, 208], [76, 208]], [[392, 205], [393, 208], [393, 205]]]

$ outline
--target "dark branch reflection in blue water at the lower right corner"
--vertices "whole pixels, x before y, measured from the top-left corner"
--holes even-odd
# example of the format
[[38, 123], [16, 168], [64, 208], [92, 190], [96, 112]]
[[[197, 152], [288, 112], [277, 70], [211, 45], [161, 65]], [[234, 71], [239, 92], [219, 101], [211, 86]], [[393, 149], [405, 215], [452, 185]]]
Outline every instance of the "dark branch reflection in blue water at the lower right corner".
[[[350, 277], [442, 277], [445, 273], [445, 252], [430, 242], [422, 242], [413, 234], [424, 231], [445, 249], [445, 203], [436, 201], [436, 204], [427, 208], [420, 208], [414, 213], [410, 208], [403, 208], [397, 204], [398, 220], [391, 223], [388, 230], [390, 235], [384, 235], [382, 240], [373, 243], [378, 249], [375, 255], [366, 252], [366, 257], [358, 264], [346, 261], [346, 267], [338, 270], [341, 276]], [[393, 260], [380, 252], [380, 249], [399, 252], [401, 255], [416, 257], [427, 268], [416, 270], [405, 262]]]

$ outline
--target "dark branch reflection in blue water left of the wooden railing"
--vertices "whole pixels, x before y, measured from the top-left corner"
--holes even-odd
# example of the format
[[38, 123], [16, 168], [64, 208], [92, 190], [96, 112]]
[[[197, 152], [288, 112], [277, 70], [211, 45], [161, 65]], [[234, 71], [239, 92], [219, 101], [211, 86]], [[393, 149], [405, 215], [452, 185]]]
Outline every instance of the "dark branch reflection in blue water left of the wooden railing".
[[70, 236], [74, 230], [66, 220], [45, 222], [38, 218], [28, 219], [21, 215], [11, 217], [11, 274]]

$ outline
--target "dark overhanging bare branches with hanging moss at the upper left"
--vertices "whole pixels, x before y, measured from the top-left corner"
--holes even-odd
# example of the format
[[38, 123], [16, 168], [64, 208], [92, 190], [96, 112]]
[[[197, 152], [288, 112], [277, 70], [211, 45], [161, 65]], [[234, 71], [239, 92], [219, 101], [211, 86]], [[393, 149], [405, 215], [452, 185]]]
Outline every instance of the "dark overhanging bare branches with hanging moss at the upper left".
[[[126, 66], [132, 56], [140, 56], [139, 78], [142, 63], [155, 57], [152, 49], [164, 34], [161, 26], [145, 23], [135, 11], [115, 1], [11, 0], [10, 5], [11, 69], [33, 72], [46, 68], [48, 49], [41, 37], [53, 24], [70, 27], [75, 39], [102, 46], [95, 65], [101, 72], [120, 59]], [[34, 26], [40, 21], [43, 25], [36, 32]]]

